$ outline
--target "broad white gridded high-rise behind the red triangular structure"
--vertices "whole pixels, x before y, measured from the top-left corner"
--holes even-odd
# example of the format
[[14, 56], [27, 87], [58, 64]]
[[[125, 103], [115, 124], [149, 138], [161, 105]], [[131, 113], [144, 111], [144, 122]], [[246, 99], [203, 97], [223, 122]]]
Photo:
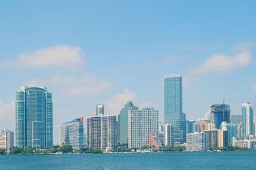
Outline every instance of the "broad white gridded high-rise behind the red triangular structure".
[[[143, 108], [128, 111], [128, 147], [152, 146], [150, 134], [158, 139], [158, 110]], [[152, 138], [151, 138], [152, 139]]]

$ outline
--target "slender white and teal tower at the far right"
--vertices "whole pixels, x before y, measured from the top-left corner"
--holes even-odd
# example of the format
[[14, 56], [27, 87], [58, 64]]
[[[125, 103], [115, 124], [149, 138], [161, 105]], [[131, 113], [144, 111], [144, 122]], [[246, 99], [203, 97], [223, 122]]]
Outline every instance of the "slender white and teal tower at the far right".
[[243, 137], [246, 137], [248, 135], [253, 135], [254, 134], [253, 106], [249, 102], [242, 104], [242, 117], [243, 117], [243, 128], [242, 128]]

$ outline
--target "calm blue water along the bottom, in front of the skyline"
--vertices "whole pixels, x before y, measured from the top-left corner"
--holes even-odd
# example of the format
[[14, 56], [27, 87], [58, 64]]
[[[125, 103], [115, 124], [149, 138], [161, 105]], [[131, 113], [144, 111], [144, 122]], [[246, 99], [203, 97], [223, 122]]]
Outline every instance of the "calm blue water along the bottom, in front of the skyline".
[[2, 155], [0, 169], [256, 169], [256, 152]]

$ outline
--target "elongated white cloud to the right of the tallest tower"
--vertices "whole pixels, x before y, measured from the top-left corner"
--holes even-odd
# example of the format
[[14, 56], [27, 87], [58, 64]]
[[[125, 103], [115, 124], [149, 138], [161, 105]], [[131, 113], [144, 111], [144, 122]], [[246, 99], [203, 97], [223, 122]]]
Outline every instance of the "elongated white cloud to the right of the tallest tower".
[[216, 53], [184, 76], [184, 87], [194, 81], [200, 80], [200, 77], [204, 74], [221, 71], [227, 72], [232, 69], [246, 67], [251, 63], [252, 55], [249, 52], [240, 52], [235, 56]]

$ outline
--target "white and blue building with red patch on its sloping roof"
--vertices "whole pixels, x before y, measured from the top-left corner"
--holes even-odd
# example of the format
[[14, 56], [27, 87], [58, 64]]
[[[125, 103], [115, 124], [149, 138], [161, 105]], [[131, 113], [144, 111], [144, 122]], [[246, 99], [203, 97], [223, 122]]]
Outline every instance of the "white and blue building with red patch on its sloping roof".
[[60, 125], [60, 146], [72, 145], [75, 149], [84, 146], [84, 122], [83, 117], [75, 118], [70, 122]]

